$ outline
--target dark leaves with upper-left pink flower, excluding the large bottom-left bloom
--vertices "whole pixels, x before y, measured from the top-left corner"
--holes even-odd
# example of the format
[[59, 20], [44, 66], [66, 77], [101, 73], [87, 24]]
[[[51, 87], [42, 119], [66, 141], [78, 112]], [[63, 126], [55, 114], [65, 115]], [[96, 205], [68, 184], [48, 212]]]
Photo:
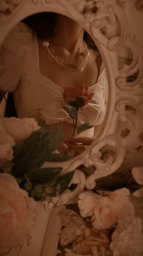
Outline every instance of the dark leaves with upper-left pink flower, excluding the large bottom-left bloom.
[[[50, 133], [50, 126], [39, 127], [33, 118], [4, 118], [2, 123], [9, 135], [1, 135], [1, 140], [5, 140], [0, 151], [1, 172], [12, 174], [19, 187], [35, 200], [50, 200], [50, 197], [61, 194], [68, 187], [74, 171], [60, 176], [62, 168], [44, 168], [42, 165], [47, 160], [69, 158], [67, 154], [55, 152], [62, 142], [62, 125]], [[24, 140], [21, 140], [22, 136]]]

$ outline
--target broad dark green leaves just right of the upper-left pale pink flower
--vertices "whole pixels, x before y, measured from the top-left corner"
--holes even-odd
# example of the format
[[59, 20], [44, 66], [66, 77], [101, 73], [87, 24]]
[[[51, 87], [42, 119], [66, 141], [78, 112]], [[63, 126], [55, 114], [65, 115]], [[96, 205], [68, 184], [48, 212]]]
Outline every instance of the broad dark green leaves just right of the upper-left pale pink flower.
[[50, 126], [43, 126], [30, 137], [20, 141], [13, 147], [12, 174], [15, 177], [24, 176], [32, 169], [40, 168], [51, 154], [59, 147], [63, 140], [61, 123], [58, 124], [53, 133], [50, 133]]

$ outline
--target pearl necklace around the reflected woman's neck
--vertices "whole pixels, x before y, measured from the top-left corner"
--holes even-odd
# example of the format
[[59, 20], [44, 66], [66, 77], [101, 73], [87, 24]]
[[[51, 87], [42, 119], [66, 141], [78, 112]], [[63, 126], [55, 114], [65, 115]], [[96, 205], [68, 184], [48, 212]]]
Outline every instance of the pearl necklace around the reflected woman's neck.
[[62, 60], [59, 59], [58, 55], [56, 54], [55, 50], [53, 49], [53, 44], [50, 43], [50, 40], [44, 41], [42, 43], [42, 46], [47, 49], [48, 53], [52, 56], [52, 58], [54, 60], [56, 60], [56, 62], [59, 65], [64, 66], [64, 68], [70, 69], [71, 71], [82, 72], [84, 70], [85, 66], [87, 65], [88, 55], [89, 55], [88, 47], [87, 47], [87, 44], [85, 43], [85, 41], [84, 41], [84, 44], [85, 44], [86, 49], [83, 52], [79, 52], [79, 58], [78, 58], [76, 65], [73, 63], [62, 62]]

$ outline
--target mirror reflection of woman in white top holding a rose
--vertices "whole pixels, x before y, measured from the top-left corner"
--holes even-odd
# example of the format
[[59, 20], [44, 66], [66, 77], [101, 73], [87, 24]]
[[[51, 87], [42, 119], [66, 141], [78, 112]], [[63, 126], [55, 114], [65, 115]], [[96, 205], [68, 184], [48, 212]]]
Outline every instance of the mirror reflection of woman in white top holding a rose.
[[51, 130], [62, 121], [59, 152], [77, 155], [105, 116], [107, 78], [93, 40], [67, 16], [37, 13], [17, 24], [1, 47], [0, 90], [5, 116], [35, 118]]

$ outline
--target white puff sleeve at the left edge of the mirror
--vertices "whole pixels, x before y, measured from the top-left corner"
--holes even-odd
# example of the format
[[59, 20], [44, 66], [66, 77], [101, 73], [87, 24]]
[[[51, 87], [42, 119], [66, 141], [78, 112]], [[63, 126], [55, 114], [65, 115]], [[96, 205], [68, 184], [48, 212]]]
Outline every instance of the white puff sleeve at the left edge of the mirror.
[[32, 31], [19, 23], [8, 34], [0, 49], [0, 90], [15, 91], [24, 71], [28, 51], [32, 43]]

